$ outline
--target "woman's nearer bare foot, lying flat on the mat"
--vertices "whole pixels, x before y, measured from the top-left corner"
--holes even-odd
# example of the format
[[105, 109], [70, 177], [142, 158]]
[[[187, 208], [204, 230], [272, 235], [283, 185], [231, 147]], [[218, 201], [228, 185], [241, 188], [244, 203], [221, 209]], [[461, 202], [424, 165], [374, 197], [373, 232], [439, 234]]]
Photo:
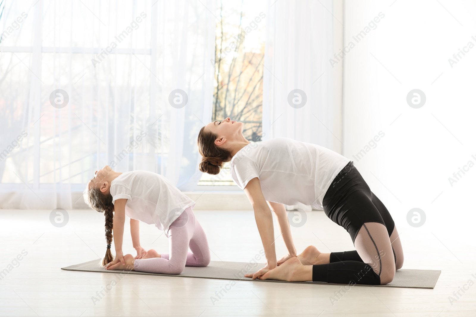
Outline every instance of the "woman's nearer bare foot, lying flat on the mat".
[[293, 257], [280, 266], [266, 272], [260, 279], [276, 279], [278, 281], [312, 281], [312, 266], [304, 266]]

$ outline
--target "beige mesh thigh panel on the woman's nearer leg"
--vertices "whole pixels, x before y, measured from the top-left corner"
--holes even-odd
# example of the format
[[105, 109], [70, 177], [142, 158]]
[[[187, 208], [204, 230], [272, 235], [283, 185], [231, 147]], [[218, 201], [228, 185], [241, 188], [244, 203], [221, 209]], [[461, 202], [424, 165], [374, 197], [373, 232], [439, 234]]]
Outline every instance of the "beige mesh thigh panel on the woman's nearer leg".
[[364, 263], [380, 276], [380, 284], [390, 283], [395, 276], [395, 258], [385, 225], [365, 222], [357, 233], [354, 246]]

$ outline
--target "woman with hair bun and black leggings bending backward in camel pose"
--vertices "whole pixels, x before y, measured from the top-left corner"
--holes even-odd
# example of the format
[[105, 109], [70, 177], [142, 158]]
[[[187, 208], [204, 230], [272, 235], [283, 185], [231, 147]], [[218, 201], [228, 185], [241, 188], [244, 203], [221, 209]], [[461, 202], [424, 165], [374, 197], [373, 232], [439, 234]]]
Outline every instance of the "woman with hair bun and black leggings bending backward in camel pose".
[[[325, 147], [275, 138], [251, 144], [243, 124], [226, 118], [198, 134], [200, 171], [218, 174], [230, 161], [230, 173], [255, 212], [267, 264], [253, 279], [384, 285], [403, 265], [403, 250], [387, 208], [370, 191], [353, 162]], [[283, 204], [305, 204], [350, 234], [356, 250], [321, 253], [309, 246], [297, 255]], [[288, 255], [276, 259], [271, 211]]]

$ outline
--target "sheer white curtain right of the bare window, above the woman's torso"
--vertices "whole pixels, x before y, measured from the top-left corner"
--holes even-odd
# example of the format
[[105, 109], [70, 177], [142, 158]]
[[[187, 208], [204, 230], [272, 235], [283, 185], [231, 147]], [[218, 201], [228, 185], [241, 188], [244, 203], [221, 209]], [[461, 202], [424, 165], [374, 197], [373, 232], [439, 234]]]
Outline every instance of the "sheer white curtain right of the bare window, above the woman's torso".
[[340, 78], [329, 63], [332, 11], [332, 0], [268, 1], [263, 139], [284, 136], [341, 152], [340, 107], [333, 103]]

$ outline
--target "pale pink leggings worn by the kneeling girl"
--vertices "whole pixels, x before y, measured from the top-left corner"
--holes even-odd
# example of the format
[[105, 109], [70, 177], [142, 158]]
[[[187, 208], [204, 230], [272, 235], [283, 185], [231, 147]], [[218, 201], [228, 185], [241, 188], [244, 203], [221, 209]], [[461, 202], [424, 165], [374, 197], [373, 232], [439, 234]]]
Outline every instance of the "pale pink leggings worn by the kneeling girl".
[[[188, 207], [169, 227], [170, 254], [160, 258], [136, 259], [134, 270], [149, 273], [180, 274], [185, 266], [207, 266], [210, 263], [208, 241], [202, 227]], [[188, 248], [192, 252], [188, 252]]]

